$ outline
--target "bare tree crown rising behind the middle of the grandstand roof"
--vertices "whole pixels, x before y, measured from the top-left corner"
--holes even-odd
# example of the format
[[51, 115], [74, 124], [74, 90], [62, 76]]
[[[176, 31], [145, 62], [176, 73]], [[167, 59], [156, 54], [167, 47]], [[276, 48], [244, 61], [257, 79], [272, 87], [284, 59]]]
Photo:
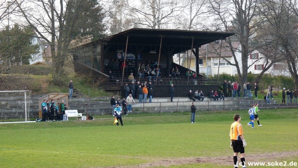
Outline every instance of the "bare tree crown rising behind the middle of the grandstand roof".
[[178, 0], [126, 0], [125, 14], [143, 28], [168, 28], [179, 17], [182, 5]]

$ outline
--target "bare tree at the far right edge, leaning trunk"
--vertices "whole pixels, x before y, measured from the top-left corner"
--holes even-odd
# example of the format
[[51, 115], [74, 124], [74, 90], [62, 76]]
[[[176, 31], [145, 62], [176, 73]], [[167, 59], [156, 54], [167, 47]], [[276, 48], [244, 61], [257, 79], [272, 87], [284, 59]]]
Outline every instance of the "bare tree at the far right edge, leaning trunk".
[[263, 26], [268, 43], [273, 45], [287, 61], [289, 72], [298, 86], [298, 1], [264, 0], [260, 6], [261, 16], [266, 18]]

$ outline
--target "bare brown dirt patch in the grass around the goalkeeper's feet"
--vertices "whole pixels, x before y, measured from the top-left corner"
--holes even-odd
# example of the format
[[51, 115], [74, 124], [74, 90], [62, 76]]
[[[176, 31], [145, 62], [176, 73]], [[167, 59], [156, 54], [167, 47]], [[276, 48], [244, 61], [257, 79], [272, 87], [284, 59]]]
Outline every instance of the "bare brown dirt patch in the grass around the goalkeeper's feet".
[[[246, 162], [275, 162], [280, 159], [298, 156], [298, 151], [294, 152], [279, 152], [279, 153], [266, 153], [266, 154], [253, 154], [246, 155]], [[238, 160], [240, 157], [238, 156]], [[188, 165], [188, 164], [214, 164], [221, 166], [233, 166], [232, 156], [223, 157], [199, 157], [199, 158], [175, 158], [163, 159], [156, 162], [140, 164], [136, 166], [121, 166], [121, 167], [108, 167], [108, 168], [151, 168], [151, 167], [169, 167], [174, 165]]]

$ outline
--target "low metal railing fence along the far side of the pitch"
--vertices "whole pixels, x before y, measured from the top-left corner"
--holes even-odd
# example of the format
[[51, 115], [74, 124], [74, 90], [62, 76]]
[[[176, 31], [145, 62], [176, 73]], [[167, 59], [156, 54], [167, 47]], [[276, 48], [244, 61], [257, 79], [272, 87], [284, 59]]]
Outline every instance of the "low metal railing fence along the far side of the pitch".
[[[298, 103], [281, 103], [282, 99], [271, 99], [271, 103], [265, 100], [225, 100], [225, 101], [196, 101], [198, 111], [219, 111], [219, 110], [248, 110], [252, 104], [259, 103], [261, 109], [284, 109], [297, 108]], [[188, 112], [192, 101], [178, 102], [152, 102], [133, 103], [133, 113], [164, 113], [164, 112]], [[70, 109], [77, 109], [84, 115], [106, 115], [112, 114], [112, 107], [107, 102], [89, 102], [70, 104]]]

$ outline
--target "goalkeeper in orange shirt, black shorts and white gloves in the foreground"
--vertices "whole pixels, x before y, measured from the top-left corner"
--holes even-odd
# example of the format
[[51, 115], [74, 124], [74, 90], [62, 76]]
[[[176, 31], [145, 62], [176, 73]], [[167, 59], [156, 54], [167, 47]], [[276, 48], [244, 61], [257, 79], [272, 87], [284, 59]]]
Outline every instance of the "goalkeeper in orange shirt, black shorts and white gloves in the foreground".
[[232, 123], [231, 128], [230, 128], [230, 147], [233, 148], [234, 151], [234, 167], [238, 168], [237, 166], [237, 156], [238, 153], [240, 152], [240, 160], [242, 163], [242, 168], [245, 167], [245, 153], [244, 153], [244, 148], [246, 147], [246, 142], [243, 137], [243, 130], [242, 130], [242, 125], [240, 124], [241, 117], [240, 114], [235, 114], [234, 115], [234, 120], [235, 122]]

